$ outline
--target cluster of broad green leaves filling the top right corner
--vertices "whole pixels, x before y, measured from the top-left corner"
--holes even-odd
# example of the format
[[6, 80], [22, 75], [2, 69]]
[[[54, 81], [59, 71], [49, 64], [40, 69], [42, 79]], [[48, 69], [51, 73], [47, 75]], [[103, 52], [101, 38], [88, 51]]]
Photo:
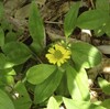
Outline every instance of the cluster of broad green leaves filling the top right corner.
[[[94, 30], [97, 36], [110, 35], [109, 0], [96, 0], [96, 9], [82, 12], [77, 19], [80, 29]], [[97, 30], [97, 32], [96, 32]]]

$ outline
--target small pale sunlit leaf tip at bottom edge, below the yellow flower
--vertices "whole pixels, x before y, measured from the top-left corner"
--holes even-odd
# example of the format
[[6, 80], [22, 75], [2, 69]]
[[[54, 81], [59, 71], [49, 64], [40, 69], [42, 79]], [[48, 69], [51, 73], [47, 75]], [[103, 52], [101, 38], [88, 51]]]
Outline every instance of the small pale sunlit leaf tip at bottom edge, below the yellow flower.
[[47, 109], [59, 109], [58, 102], [54, 97], [48, 99]]

